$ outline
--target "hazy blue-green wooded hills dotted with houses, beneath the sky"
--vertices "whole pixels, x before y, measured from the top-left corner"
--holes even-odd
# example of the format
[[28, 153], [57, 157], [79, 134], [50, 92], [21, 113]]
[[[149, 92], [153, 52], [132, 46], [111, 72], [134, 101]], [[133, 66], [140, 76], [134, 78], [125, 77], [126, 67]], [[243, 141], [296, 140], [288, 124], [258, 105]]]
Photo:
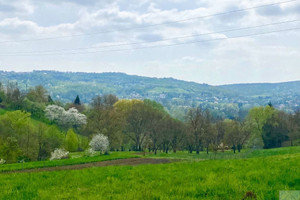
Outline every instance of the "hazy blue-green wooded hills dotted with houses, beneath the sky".
[[0, 81], [15, 81], [24, 91], [26, 85], [43, 85], [53, 99], [73, 101], [78, 94], [89, 103], [96, 95], [112, 93], [119, 98], [153, 99], [162, 103], [175, 117], [182, 118], [190, 106], [212, 110], [219, 117], [244, 117], [246, 111], [268, 102], [282, 110], [292, 112], [300, 108], [300, 81], [286, 83], [255, 83], [211, 86], [176, 80], [149, 78], [124, 73], [81, 72], [4, 72]]

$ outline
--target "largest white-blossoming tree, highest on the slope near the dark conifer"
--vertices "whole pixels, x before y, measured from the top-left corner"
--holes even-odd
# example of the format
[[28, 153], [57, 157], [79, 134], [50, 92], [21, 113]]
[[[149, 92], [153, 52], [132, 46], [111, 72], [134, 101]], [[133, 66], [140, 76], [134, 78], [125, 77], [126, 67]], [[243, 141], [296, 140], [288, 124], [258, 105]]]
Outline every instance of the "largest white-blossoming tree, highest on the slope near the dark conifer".
[[76, 108], [65, 110], [57, 105], [49, 105], [45, 109], [46, 117], [60, 126], [66, 128], [78, 127], [86, 124], [86, 116], [78, 112]]

